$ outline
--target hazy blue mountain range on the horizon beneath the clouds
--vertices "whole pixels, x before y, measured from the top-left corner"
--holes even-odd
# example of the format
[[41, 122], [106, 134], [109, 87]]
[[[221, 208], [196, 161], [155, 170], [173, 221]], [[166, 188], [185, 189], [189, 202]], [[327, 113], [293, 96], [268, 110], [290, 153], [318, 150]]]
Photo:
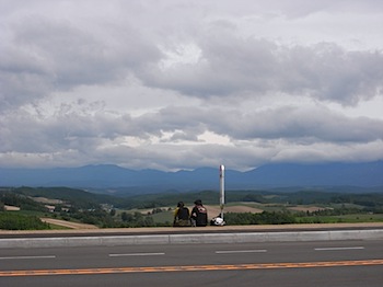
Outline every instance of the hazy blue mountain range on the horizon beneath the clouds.
[[[117, 165], [85, 165], [55, 169], [0, 169], [0, 186], [67, 186], [124, 188], [130, 192], [219, 190], [219, 170], [163, 172], [129, 170]], [[368, 163], [266, 164], [239, 172], [225, 171], [227, 190], [289, 186], [382, 187], [383, 161]]]

